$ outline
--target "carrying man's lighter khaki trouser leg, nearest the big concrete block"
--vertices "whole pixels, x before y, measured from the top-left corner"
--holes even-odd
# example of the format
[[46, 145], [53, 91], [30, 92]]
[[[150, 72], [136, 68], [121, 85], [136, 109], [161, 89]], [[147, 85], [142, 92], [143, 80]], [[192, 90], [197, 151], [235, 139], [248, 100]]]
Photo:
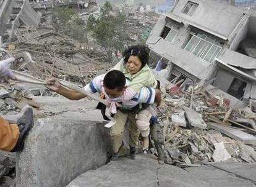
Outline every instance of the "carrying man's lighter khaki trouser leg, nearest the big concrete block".
[[117, 111], [114, 119], [116, 124], [114, 124], [110, 129], [110, 135], [112, 140], [113, 156], [111, 160], [118, 158], [118, 153], [120, 151], [122, 144], [122, 139], [124, 135], [124, 125], [126, 124], [128, 114], [124, 114], [121, 111]]

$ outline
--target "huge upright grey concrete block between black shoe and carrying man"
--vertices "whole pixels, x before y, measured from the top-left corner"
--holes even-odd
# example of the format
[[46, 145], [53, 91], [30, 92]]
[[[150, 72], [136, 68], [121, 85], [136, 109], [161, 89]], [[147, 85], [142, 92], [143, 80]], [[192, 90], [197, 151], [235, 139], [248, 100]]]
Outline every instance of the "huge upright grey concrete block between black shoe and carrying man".
[[109, 129], [92, 101], [38, 97], [40, 117], [17, 155], [17, 187], [66, 186], [105, 165]]

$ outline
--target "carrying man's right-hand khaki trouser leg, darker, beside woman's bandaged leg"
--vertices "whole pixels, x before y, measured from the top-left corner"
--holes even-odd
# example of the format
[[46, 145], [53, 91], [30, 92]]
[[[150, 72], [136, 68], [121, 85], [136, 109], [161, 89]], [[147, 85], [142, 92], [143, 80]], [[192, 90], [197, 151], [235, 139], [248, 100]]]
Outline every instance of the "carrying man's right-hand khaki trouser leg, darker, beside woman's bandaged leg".
[[136, 146], [138, 145], [140, 130], [137, 127], [135, 114], [129, 114], [129, 146], [130, 146], [130, 158], [135, 159]]

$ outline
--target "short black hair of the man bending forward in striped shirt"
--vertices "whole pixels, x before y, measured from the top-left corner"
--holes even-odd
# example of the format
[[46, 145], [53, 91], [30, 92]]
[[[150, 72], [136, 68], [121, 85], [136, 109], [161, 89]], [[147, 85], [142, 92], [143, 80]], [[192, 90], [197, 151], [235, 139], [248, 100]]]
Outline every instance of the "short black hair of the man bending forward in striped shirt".
[[124, 73], [118, 70], [109, 71], [103, 79], [103, 84], [108, 89], [117, 89], [121, 91], [126, 86], [126, 77]]

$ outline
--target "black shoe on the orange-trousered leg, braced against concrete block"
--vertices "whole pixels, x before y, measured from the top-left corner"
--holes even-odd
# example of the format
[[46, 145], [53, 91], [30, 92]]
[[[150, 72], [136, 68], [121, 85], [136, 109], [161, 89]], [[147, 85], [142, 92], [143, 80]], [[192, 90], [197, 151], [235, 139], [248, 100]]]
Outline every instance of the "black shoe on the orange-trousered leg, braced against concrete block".
[[24, 109], [22, 116], [17, 121], [17, 125], [19, 127], [20, 135], [19, 135], [19, 139], [18, 139], [15, 147], [12, 149], [11, 152], [22, 151], [24, 148], [25, 138], [27, 137], [30, 129], [32, 129], [32, 127], [33, 127], [33, 109], [32, 109], [32, 107], [27, 106]]

